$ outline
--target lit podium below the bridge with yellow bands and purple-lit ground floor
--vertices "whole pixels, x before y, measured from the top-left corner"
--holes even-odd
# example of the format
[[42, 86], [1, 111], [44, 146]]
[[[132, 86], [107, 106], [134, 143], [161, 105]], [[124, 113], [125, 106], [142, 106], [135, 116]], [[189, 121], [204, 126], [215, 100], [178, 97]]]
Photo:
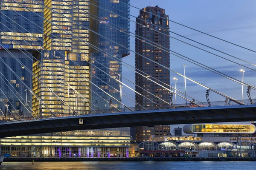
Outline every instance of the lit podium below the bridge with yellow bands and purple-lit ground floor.
[[128, 157], [130, 137], [114, 129], [79, 130], [0, 139], [10, 157]]

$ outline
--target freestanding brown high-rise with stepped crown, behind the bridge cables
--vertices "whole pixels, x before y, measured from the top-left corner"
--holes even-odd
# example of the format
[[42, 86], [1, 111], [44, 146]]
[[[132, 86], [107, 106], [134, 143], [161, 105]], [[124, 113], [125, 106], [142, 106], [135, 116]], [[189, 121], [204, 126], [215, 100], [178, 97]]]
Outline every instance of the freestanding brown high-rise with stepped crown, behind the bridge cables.
[[[140, 54], [135, 55], [135, 67], [145, 73], [143, 74], [145, 77], [149, 78], [152, 76], [159, 80], [157, 83], [163, 85], [166, 88], [170, 88], [167, 86], [170, 85], [170, 71], [166, 68], [163, 68], [161, 65], [169, 68], [170, 56], [168, 52], [159, 47], [164, 47], [167, 49], [170, 48], [168, 30], [168, 15], [165, 14], [165, 10], [163, 8], [159, 8], [158, 6], [149, 6], [140, 10], [140, 15], [136, 19], [136, 35], [137, 37], [140, 36], [144, 39], [135, 40], [135, 50], [138, 54]], [[151, 44], [154, 42], [155, 45], [150, 45], [147, 42]], [[149, 61], [147, 58], [155, 61], [156, 63]], [[150, 80], [152, 78], [147, 79], [145, 77], [137, 73], [135, 75], [135, 82], [137, 85], [135, 89], [139, 94], [141, 94], [139, 95], [136, 93], [136, 102], [143, 107], [161, 107], [168, 105], [167, 103], [170, 103], [170, 91], [152, 82]], [[167, 85], [163, 84], [162, 82]], [[135, 130], [136, 136], [133, 136], [133, 139], [135, 137], [137, 141], [146, 141], [150, 139], [151, 135], [167, 135], [170, 133], [170, 126], [143, 126], [133, 128], [133, 131]]]

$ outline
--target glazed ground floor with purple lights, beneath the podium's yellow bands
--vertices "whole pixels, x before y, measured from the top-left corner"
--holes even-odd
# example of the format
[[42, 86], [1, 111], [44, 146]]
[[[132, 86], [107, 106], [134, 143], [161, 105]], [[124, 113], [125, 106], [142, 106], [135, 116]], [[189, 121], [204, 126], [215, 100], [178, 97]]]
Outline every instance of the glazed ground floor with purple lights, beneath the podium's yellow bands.
[[129, 157], [129, 147], [2, 146], [5, 157]]

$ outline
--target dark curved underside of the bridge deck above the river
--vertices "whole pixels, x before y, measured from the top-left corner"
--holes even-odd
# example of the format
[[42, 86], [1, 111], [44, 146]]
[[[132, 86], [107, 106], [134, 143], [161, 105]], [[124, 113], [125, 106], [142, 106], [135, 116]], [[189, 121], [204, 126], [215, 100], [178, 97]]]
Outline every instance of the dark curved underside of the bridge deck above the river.
[[[82, 125], [79, 125], [79, 119], [83, 120]], [[256, 105], [102, 113], [7, 122], [0, 124], [0, 138], [112, 127], [246, 121], [256, 121]]]

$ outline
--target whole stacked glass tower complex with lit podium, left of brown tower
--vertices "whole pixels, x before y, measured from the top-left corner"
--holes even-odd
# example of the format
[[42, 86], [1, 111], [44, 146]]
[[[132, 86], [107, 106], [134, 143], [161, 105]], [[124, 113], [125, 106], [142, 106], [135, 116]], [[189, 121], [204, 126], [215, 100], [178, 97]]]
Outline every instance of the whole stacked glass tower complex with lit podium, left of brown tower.
[[[18, 119], [22, 114], [31, 116], [31, 112], [34, 116], [49, 117], [86, 114], [97, 107], [108, 109], [108, 102], [100, 100], [109, 99], [103, 91], [120, 100], [116, 79], [122, 74], [121, 62], [104, 53], [120, 60], [129, 54], [129, 35], [124, 33], [130, 31], [129, 21], [125, 19], [129, 18], [129, 3], [130, 0], [2, 0], [1, 116]], [[117, 14], [118, 11], [127, 14]], [[122, 31], [111, 26], [119, 26]], [[113, 105], [120, 107], [114, 99]], [[26, 153], [32, 157], [126, 157], [130, 128], [47, 133], [15, 139], [24, 138], [41, 142], [22, 140], [17, 144], [12, 143], [12, 138], [1, 139], [0, 144], [5, 147], [2, 152]]]

